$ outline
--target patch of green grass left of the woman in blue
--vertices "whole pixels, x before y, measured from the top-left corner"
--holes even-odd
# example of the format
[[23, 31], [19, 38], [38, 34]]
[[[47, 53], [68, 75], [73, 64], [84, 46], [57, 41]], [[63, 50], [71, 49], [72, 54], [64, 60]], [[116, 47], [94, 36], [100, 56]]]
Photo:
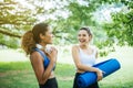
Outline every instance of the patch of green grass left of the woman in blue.
[[38, 88], [29, 62], [0, 63], [0, 88]]

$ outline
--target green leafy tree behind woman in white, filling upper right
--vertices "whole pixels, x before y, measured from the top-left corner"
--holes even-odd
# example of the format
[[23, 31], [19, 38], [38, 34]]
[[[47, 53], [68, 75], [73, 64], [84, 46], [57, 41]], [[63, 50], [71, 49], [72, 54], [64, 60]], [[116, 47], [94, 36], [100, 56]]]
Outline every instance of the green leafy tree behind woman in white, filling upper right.
[[[126, 11], [112, 12], [112, 23], [100, 23], [94, 21], [93, 12], [103, 6], [120, 6], [126, 8]], [[122, 4], [122, 6], [121, 6]], [[114, 8], [115, 8], [114, 7]], [[65, 32], [71, 35], [71, 42], [75, 43], [75, 33], [80, 26], [90, 25], [93, 28], [95, 35], [94, 43], [100, 47], [101, 56], [108, 55], [115, 50], [114, 45], [133, 45], [133, 1], [129, 0], [91, 0], [85, 4], [72, 1], [66, 7], [70, 16], [62, 22], [62, 28], [68, 28]], [[106, 8], [106, 7], [105, 7]], [[101, 31], [101, 32], [98, 32]], [[129, 36], [130, 35], [130, 36]], [[69, 36], [69, 34], [68, 34]], [[66, 36], [65, 36], [66, 37]]]

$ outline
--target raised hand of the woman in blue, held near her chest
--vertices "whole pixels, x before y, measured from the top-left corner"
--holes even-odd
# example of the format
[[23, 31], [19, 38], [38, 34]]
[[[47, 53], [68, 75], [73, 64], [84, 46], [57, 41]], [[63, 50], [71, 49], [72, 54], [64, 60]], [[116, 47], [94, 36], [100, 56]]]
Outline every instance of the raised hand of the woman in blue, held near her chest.
[[50, 48], [50, 52], [47, 53], [51, 62], [57, 62], [58, 51], [54, 47]]

